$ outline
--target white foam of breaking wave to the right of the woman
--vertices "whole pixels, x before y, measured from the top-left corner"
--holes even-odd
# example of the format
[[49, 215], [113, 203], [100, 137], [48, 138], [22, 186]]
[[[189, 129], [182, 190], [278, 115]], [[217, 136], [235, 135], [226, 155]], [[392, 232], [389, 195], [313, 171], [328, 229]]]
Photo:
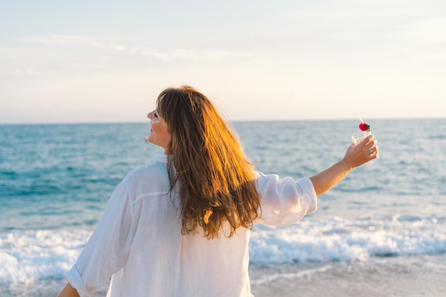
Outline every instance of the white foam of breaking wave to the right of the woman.
[[446, 230], [437, 219], [311, 220], [286, 227], [256, 226], [251, 233], [254, 263], [366, 261], [371, 256], [442, 254]]

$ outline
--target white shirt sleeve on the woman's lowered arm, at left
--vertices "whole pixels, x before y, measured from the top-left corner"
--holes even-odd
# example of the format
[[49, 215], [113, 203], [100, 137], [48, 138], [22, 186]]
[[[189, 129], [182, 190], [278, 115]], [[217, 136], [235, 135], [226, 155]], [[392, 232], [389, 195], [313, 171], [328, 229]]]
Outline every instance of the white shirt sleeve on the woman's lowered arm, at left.
[[123, 267], [134, 235], [129, 190], [125, 182], [120, 182], [78, 261], [66, 273], [81, 297], [92, 296]]

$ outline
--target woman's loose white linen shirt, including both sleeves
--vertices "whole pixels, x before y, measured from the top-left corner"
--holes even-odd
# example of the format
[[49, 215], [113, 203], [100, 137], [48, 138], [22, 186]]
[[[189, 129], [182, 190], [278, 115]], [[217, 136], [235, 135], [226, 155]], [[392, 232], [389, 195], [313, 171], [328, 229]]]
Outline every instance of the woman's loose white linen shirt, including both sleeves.
[[[316, 210], [307, 177], [258, 172], [261, 218], [286, 225]], [[178, 188], [169, 192], [167, 157], [131, 171], [110, 197], [103, 217], [66, 277], [84, 296], [110, 281], [109, 297], [250, 297], [249, 229], [207, 240], [181, 234]]]

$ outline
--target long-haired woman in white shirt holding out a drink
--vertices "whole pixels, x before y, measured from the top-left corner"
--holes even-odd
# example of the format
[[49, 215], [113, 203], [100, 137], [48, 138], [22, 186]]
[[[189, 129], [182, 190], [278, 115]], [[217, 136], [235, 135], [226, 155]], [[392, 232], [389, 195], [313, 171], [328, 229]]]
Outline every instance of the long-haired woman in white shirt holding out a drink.
[[253, 224], [299, 221], [318, 195], [378, 154], [370, 136], [316, 176], [279, 179], [254, 170], [194, 88], [162, 91], [147, 116], [148, 141], [165, 155], [120, 182], [61, 297], [91, 296], [110, 276], [108, 296], [249, 297]]

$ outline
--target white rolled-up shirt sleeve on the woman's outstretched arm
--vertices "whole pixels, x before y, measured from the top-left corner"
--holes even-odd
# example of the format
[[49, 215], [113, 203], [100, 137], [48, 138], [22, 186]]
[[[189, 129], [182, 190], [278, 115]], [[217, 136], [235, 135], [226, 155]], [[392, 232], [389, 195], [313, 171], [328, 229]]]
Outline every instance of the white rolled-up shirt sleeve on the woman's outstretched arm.
[[295, 181], [276, 174], [258, 172], [261, 216], [256, 223], [284, 226], [293, 224], [317, 208], [317, 196], [308, 177]]

